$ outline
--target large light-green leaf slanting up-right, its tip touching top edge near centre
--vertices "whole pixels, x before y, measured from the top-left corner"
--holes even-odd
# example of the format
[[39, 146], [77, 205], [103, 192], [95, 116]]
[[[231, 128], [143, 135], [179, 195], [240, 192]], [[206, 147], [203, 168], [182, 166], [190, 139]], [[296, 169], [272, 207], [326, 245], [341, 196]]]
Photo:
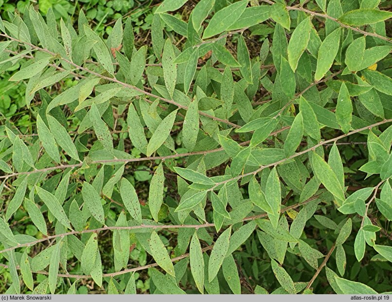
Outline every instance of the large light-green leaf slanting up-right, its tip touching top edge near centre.
[[247, 7], [247, 4], [248, 0], [238, 1], [219, 10], [213, 18], [211, 18], [210, 23], [208, 23], [203, 34], [203, 39], [215, 36], [227, 30], [238, 18], [240, 18]]

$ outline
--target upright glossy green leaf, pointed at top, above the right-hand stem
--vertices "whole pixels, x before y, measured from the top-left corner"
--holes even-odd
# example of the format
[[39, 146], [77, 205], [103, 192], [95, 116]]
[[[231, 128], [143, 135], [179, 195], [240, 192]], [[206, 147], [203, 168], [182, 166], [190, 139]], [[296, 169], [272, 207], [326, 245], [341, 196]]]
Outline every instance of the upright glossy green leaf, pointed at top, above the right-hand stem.
[[336, 104], [336, 120], [341, 130], [348, 133], [351, 128], [353, 105], [351, 104], [350, 94], [344, 82], [340, 86], [339, 96]]

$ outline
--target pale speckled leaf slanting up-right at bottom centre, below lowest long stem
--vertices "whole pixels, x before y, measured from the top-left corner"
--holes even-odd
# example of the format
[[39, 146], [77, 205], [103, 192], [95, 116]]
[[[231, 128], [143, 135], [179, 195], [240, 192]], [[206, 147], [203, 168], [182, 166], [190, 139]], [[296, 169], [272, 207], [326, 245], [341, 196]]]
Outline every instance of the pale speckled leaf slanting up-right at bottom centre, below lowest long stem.
[[220, 266], [225, 260], [225, 256], [227, 254], [227, 250], [229, 249], [229, 241], [230, 234], [232, 232], [232, 227], [226, 229], [214, 244], [214, 248], [211, 251], [210, 261], [208, 263], [208, 281], [211, 282], [214, 280], [217, 275]]

